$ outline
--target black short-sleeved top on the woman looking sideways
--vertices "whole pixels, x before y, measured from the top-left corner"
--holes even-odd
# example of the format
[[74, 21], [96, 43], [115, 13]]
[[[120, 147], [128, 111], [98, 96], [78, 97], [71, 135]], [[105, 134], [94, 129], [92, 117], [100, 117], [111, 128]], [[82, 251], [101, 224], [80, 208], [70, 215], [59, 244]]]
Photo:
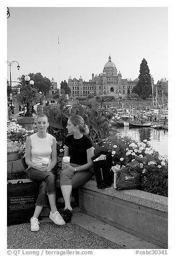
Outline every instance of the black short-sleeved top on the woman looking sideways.
[[86, 150], [93, 146], [90, 138], [83, 134], [82, 138], [75, 139], [72, 134], [65, 138], [65, 146], [69, 147], [70, 163], [85, 165], [88, 162]]

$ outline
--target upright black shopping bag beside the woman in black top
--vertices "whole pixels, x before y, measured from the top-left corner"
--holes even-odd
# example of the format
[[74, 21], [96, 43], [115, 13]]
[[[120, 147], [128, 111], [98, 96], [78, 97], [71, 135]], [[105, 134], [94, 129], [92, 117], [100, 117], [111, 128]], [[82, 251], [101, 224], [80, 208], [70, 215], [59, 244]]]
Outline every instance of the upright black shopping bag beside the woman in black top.
[[96, 177], [97, 188], [109, 188], [112, 184], [112, 153], [111, 151], [101, 151], [94, 157], [93, 170]]

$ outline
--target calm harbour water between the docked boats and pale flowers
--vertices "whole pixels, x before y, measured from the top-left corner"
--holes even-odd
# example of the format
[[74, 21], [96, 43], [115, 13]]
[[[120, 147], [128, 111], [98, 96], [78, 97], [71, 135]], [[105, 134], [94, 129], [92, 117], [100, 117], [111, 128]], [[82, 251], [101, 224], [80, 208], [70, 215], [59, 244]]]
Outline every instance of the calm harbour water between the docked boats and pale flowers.
[[166, 159], [168, 158], [168, 131], [151, 127], [112, 126], [112, 128], [116, 131], [118, 137], [127, 136], [135, 141], [143, 141], [144, 139], [151, 141], [151, 146], [163, 154]]

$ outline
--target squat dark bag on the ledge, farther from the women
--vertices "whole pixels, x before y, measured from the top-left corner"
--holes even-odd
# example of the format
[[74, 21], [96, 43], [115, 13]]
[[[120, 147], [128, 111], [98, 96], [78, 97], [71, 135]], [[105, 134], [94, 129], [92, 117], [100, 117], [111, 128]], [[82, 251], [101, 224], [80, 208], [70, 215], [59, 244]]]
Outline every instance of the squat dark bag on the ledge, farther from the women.
[[116, 190], [141, 188], [141, 169], [136, 160], [114, 172], [114, 188]]

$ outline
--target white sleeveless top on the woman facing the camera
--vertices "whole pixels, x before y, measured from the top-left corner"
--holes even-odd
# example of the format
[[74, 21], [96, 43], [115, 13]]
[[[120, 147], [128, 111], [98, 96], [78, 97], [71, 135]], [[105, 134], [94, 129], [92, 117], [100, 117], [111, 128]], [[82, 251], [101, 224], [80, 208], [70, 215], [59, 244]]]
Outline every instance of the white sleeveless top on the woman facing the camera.
[[48, 158], [51, 162], [53, 136], [46, 133], [46, 138], [40, 139], [37, 133], [30, 136], [31, 138], [31, 160], [34, 163], [41, 163], [42, 158]]

